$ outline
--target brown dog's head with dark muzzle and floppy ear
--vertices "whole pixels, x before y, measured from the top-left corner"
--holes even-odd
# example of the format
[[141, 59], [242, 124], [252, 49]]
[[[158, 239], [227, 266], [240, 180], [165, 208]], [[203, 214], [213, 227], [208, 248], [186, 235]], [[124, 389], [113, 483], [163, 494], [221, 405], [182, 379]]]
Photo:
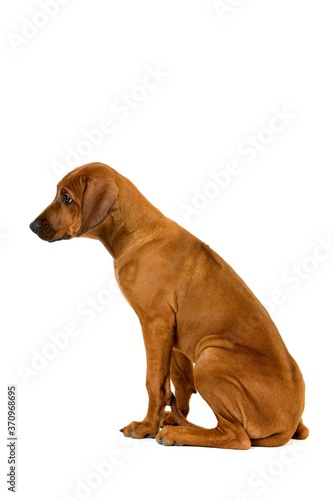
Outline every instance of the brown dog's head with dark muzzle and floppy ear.
[[113, 177], [114, 171], [101, 163], [76, 168], [59, 182], [55, 199], [30, 229], [49, 242], [86, 235], [118, 207]]

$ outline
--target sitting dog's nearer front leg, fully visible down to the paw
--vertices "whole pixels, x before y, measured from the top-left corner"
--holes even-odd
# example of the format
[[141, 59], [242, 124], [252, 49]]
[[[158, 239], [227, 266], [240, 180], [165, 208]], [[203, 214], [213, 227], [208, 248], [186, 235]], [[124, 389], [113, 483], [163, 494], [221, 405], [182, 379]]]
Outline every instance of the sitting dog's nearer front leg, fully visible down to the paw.
[[122, 432], [126, 437], [155, 437], [159, 432], [165, 406], [170, 404], [170, 366], [173, 346], [173, 327], [155, 320], [142, 327], [147, 356], [146, 387], [149, 403], [142, 422], [132, 422]]

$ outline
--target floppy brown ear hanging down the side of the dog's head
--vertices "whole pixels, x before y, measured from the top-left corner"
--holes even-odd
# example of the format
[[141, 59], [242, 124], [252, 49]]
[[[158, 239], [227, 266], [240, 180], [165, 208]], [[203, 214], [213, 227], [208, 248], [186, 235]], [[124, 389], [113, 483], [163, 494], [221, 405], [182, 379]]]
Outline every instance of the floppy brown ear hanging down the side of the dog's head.
[[76, 236], [99, 226], [118, 207], [118, 187], [111, 179], [82, 177], [82, 222]]

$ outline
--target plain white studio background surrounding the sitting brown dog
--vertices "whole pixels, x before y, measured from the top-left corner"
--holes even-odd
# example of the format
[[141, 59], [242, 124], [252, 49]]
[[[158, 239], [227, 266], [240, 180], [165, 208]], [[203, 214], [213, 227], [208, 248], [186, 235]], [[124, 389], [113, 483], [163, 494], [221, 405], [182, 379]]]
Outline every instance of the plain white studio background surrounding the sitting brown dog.
[[[1, 2], [2, 498], [9, 495], [6, 388], [13, 383], [15, 498], [331, 494], [333, 251], [318, 250], [333, 236], [331, 2], [226, 0], [225, 14], [212, 0], [62, 3], [51, 16], [40, 15], [42, 2]], [[29, 31], [27, 20], [39, 27]], [[25, 42], [22, 30], [30, 33]], [[147, 68], [164, 76], [140, 94]], [[131, 93], [141, 101], [124, 118], [111, 105]], [[271, 137], [262, 129], [274, 109], [293, 119]], [[144, 417], [147, 396], [139, 323], [112, 288], [112, 259], [98, 242], [49, 245], [28, 227], [54, 197], [62, 177], [54, 162], [64, 164], [83, 130], [105, 118], [113, 132], [78, 164], [103, 161], [129, 177], [270, 307], [307, 384], [308, 440], [230, 451], [166, 448], [119, 433]], [[238, 148], [258, 134], [269, 143], [248, 161]], [[193, 207], [195, 194], [209, 191], [209, 172], [235, 159], [238, 175], [184, 219], [182, 204]], [[272, 306], [275, 289], [281, 303]], [[78, 307], [92, 297], [109, 303], [99, 301], [102, 310], [87, 323]], [[31, 368], [50, 333], [71, 322], [80, 333], [25, 383], [19, 367]], [[199, 395], [190, 420], [215, 425]], [[99, 480], [93, 464], [111, 459], [112, 473]], [[75, 492], [87, 481], [90, 492]]]

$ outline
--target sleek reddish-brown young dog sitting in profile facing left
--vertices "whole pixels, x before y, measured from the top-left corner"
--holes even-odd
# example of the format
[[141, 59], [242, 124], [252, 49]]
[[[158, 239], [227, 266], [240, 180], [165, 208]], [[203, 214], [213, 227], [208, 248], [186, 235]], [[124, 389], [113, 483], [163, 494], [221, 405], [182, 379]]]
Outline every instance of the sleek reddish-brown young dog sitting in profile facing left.
[[[147, 354], [148, 412], [122, 429], [125, 436], [235, 449], [308, 436], [301, 372], [265, 308], [221, 257], [128, 179], [101, 163], [83, 165], [59, 182], [30, 228], [46, 241], [100, 240], [114, 259]], [[196, 390], [215, 429], [185, 418]]]

